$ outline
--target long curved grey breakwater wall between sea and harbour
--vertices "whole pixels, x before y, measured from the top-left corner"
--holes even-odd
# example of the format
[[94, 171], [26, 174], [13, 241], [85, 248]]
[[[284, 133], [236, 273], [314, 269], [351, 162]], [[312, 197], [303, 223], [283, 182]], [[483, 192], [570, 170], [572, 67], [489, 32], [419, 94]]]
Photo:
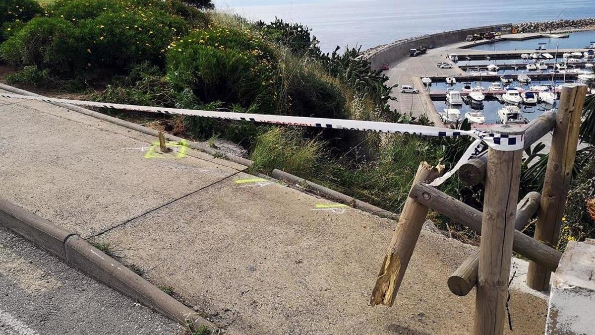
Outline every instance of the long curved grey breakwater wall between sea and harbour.
[[469, 29], [451, 30], [431, 35], [423, 35], [410, 39], [402, 39], [392, 44], [377, 46], [364, 53], [364, 57], [371, 63], [372, 69], [380, 69], [384, 63], [395, 63], [409, 57], [409, 49], [419, 45], [434, 45], [436, 47], [464, 42], [467, 35], [484, 32], [511, 33], [512, 23], [496, 24], [493, 26], [474, 27]]

